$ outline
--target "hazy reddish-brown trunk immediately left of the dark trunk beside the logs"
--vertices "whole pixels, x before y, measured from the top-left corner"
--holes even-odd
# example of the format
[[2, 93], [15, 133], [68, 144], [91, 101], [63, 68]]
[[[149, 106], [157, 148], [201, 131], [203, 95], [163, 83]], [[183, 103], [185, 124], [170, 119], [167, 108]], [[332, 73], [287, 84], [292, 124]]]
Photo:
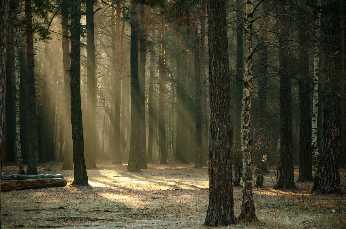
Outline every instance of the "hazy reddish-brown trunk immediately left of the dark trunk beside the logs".
[[64, 133], [64, 152], [63, 152], [63, 167], [62, 170], [73, 169], [73, 156], [72, 156], [72, 126], [71, 126], [71, 76], [70, 76], [70, 41], [69, 38], [69, 4], [66, 1], [62, 2], [61, 8], [61, 42], [63, 54], [63, 76], [64, 76], [64, 111], [63, 126]]

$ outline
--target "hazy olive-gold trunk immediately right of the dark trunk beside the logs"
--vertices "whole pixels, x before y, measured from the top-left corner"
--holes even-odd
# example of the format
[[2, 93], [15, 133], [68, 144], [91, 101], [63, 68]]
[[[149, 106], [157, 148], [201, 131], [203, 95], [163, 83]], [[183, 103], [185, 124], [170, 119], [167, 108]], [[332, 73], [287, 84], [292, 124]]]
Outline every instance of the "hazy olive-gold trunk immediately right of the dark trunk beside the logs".
[[94, 0], [86, 0], [86, 125], [85, 163], [87, 168], [96, 168], [96, 81], [95, 81], [95, 36]]

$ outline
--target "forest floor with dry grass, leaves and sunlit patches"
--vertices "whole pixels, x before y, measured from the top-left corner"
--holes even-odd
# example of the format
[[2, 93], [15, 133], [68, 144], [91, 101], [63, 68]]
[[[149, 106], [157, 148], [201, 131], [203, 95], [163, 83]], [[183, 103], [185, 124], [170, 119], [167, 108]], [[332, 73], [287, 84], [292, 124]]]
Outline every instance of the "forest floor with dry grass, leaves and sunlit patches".
[[[1, 192], [2, 228], [207, 228], [207, 167], [148, 163], [139, 173], [127, 171], [126, 164], [98, 161], [98, 169], [87, 170], [91, 187], [70, 186], [73, 170], [61, 167], [51, 161], [39, 164], [38, 171], [62, 174], [66, 187]], [[7, 163], [3, 171], [13, 174], [17, 169]], [[298, 168], [294, 175], [297, 180]], [[340, 176], [343, 195], [314, 196], [313, 182], [296, 182], [298, 189], [272, 189], [275, 178], [268, 174], [263, 187], [253, 188], [260, 224], [220, 228], [346, 228], [346, 177]], [[233, 190], [237, 217], [242, 190]]]

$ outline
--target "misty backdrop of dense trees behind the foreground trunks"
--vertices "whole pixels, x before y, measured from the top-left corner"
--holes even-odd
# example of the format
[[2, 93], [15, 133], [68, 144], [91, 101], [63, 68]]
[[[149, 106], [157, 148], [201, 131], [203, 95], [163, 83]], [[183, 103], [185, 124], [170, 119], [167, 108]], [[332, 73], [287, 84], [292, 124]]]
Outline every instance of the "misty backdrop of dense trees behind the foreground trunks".
[[[255, 1], [251, 18], [246, 4], [226, 2], [234, 185], [240, 185], [243, 166], [245, 84], [252, 97], [248, 135], [255, 184], [273, 167], [279, 186], [294, 187], [294, 181], [279, 179], [293, 164], [300, 165], [299, 180], [312, 180], [330, 125], [337, 129], [338, 151], [330, 160], [339, 173], [339, 163], [346, 163], [340, 141], [346, 134], [344, 1]], [[333, 19], [331, 6], [338, 8]], [[73, 169], [70, 117], [79, 91], [72, 87], [72, 37], [78, 26], [70, 9], [66, 0], [10, 2], [3, 157], [18, 161], [20, 173], [24, 163], [28, 174], [36, 174], [37, 161], [63, 161], [62, 169]], [[80, 83], [74, 84], [80, 102], [74, 101], [81, 106], [86, 168], [95, 168], [96, 160], [128, 161], [129, 170], [152, 161], [207, 165], [207, 2], [86, 0], [80, 14]], [[249, 49], [245, 38], [251, 39]], [[334, 116], [336, 123], [325, 121]]]

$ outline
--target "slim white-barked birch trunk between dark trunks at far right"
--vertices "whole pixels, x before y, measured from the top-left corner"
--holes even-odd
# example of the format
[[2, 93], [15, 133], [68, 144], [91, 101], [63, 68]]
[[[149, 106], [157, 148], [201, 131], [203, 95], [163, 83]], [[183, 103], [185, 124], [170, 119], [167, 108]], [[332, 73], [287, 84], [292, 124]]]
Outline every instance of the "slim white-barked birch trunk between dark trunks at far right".
[[[321, 0], [317, 0], [317, 5], [321, 6]], [[313, 178], [313, 187], [311, 191], [316, 191], [319, 182], [320, 176], [320, 156], [318, 152], [317, 146], [317, 117], [318, 117], [318, 83], [319, 83], [319, 62], [320, 62], [320, 38], [319, 38], [319, 30], [321, 27], [321, 13], [318, 10], [316, 15], [316, 27], [317, 32], [315, 35], [315, 53], [314, 53], [314, 61], [313, 61], [313, 98], [312, 98], [312, 134], [311, 134], [311, 150], [312, 150], [312, 158], [315, 162], [313, 167], [315, 172], [315, 177]]]

